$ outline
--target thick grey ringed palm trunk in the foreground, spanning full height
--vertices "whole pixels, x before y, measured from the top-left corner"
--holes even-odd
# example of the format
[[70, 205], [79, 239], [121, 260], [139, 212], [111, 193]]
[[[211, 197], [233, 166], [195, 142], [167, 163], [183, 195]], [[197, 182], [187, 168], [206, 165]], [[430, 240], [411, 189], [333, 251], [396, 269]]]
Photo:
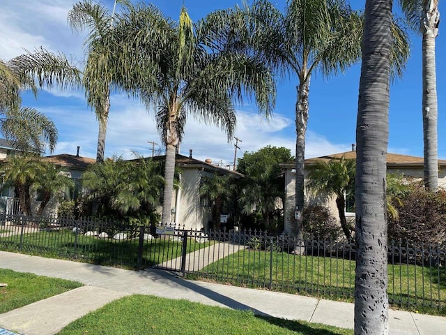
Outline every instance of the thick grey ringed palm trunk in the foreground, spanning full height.
[[392, 0], [367, 0], [356, 125], [355, 335], [387, 335], [386, 155]]

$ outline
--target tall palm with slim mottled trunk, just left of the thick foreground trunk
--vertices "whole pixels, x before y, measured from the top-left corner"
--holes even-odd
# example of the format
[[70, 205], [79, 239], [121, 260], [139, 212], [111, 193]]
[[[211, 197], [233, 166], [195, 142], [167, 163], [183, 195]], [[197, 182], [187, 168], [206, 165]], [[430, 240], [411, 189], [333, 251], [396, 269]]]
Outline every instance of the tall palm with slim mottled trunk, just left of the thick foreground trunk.
[[[305, 203], [305, 133], [309, 119], [309, 84], [316, 72], [325, 77], [344, 72], [360, 59], [363, 17], [344, 0], [291, 0], [285, 15], [268, 0], [256, 1], [241, 10], [251, 34], [250, 48], [264, 57], [282, 74], [298, 77], [295, 105], [295, 207], [301, 213]], [[407, 36], [392, 25], [394, 72], [401, 70], [408, 57]], [[234, 43], [236, 47], [240, 43]], [[296, 220], [296, 235], [302, 238], [302, 215]]]

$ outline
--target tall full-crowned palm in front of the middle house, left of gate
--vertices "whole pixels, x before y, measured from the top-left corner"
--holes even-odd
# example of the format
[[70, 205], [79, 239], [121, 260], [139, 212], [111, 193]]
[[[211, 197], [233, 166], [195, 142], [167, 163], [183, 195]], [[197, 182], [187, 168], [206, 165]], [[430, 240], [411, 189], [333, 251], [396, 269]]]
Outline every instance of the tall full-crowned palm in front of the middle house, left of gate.
[[[116, 20], [118, 21], [118, 20]], [[162, 223], [171, 216], [175, 154], [189, 117], [220, 126], [233, 137], [233, 103], [254, 93], [259, 112], [270, 114], [275, 97], [272, 75], [259, 59], [226, 48], [214, 27], [226, 27], [222, 15], [193, 24], [185, 8], [173, 22], [155, 6], [141, 4], [119, 17], [117, 47], [132, 55], [132, 71], [121, 75], [125, 89], [155, 107], [157, 128], [166, 147]], [[121, 52], [121, 51], [120, 51]]]

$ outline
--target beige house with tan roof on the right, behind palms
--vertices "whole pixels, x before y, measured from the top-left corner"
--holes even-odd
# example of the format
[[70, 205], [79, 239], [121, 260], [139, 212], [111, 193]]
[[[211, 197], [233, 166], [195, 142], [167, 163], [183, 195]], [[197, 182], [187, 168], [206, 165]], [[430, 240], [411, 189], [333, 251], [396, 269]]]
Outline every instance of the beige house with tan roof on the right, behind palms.
[[[317, 162], [328, 162], [332, 159], [356, 159], [356, 151], [346, 151], [339, 154], [309, 158], [305, 160], [305, 184], [307, 182], [307, 174]], [[280, 164], [285, 173], [285, 207], [284, 221], [285, 232], [291, 232], [293, 227], [293, 216], [295, 208], [295, 163]], [[446, 161], [438, 160], [438, 186], [446, 188]], [[387, 173], [403, 174], [405, 177], [413, 177], [423, 179], [424, 159], [422, 157], [407, 156], [400, 154], [387, 154]], [[337, 207], [332, 198], [314, 197], [311, 192], [305, 189], [305, 204], [322, 204], [330, 208], [335, 218], [338, 218]], [[355, 213], [346, 211], [347, 218], [351, 221], [355, 220]]]

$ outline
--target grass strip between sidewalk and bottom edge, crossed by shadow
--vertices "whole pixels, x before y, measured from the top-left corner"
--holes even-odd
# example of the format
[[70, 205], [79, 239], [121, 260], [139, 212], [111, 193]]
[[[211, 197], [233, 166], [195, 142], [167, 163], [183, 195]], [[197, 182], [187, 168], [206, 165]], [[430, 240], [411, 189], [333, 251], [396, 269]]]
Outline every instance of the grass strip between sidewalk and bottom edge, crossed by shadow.
[[353, 330], [258, 317], [251, 311], [186, 300], [132, 295], [85, 315], [58, 334], [353, 335]]

